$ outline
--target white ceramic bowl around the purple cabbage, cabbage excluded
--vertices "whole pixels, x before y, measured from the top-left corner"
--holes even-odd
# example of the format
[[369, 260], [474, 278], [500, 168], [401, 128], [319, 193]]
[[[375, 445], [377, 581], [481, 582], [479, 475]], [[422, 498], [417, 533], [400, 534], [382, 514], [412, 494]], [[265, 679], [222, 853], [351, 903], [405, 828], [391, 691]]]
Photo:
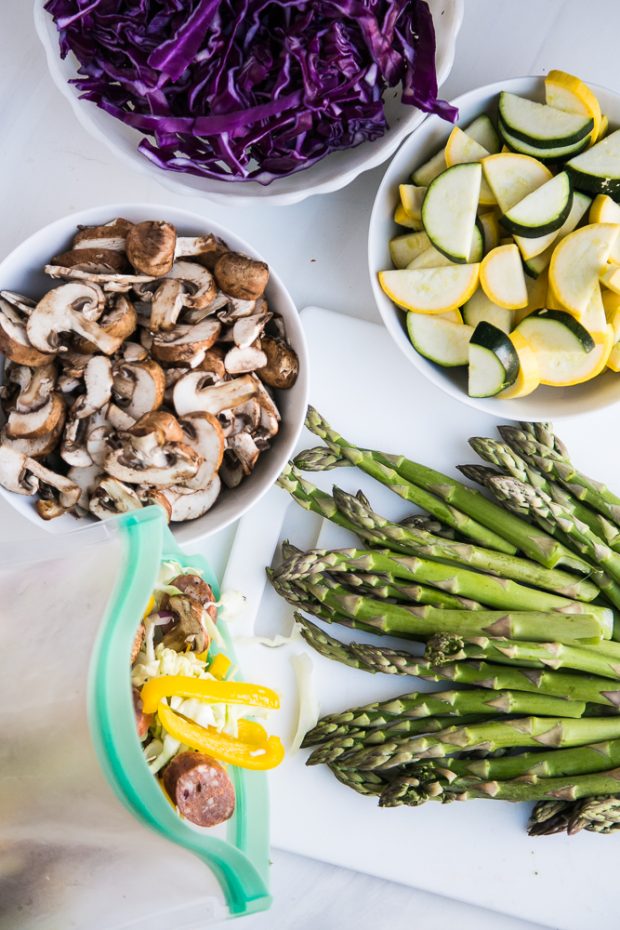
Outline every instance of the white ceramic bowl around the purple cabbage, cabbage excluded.
[[[269, 204], [298, 203], [312, 194], [326, 194], [350, 184], [363, 171], [375, 168], [392, 155], [400, 143], [424, 119], [416, 107], [404, 106], [393, 91], [386, 93], [385, 105], [390, 129], [382, 138], [365, 142], [345, 152], [334, 152], [305, 171], [281, 178], [267, 187], [257, 181], [230, 182], [198, 178], [190, 174], [164, 171], [138, 152], [142, 133], [100, 110], [94, 103], [79, 99], [79, 92], [69, 84], [76, 76], [76, 61], [67, 56], [62, 61], [58, 50], [58, 33], [45, 0], [35, 0], [34, 19], [37, 33], [47, 55], [47, 63], [59, 90], [67, 98], [82, 126], [112, 152], [134, 168], [155, 178], [176, 194], [202, 195], [216, 203], [243, 204], [260, 199]], [[428, 0], [437, 36], [435, 56], [439, 86], [448, 77], [454, 61], [456, 37], [463, 19], [464, 0]]]

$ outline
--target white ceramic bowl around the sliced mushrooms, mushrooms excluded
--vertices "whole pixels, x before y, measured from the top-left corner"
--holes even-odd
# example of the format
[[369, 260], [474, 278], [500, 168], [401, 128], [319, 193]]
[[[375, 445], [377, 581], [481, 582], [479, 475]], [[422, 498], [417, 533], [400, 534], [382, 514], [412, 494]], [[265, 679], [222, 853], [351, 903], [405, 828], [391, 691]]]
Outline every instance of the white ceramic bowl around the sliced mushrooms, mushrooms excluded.
[[[50, 287], [58, 284], [43, 274], [43, 266], [49, 262], [52, 255], [68, 248], [76, 227], [105, 223], [114, 216], [123, 216], [136, 222], [165, 219], [173, 223], [179, 233], [184, 236], [212, 232], [216, 236], [221, 236], [231, 248], [255, 258], [261, 258], [252, 246], [229, 229], [187, 210], [147, 203], [110, 204], [65, 216], [22, 242], [10, 255], [7, 255], [4, 261], [0, 262], [0, 288], [18, 291], [32, 297], [41, 296]], [[286, 324], [288, 339], [299, 356], [299, 377], [290, 390], [277, 392], [276, 400], [282, 414], [280, 432], [275, 438], [273, 447], [260, 456], [253, 473], [238, 488], [223, 490], [214, 507], [203, 517], [185, 523], [171, 524], [177, 541], [183, 544], [192, 543], [211, 533], [216, 533], [252, 507], [276, 481], [290, 458], [303, 427], [308, 405], [306, 340], [291, 296], [274, 269], [271, 268], [270, 271], [266, 297], [272, 309], [281, 314]], [[0, 355], [0, 362], [1, 360]], [[0, 494], [15, 510], [52, 534], [70, 532], [80, 526], [85, 526], [90, 519], [84, 517], [78, 521], [74, 517], [65, 516], [45, 521], [35, 510], [36, 497], [14, 494], [2, 487], [0, 487]]]

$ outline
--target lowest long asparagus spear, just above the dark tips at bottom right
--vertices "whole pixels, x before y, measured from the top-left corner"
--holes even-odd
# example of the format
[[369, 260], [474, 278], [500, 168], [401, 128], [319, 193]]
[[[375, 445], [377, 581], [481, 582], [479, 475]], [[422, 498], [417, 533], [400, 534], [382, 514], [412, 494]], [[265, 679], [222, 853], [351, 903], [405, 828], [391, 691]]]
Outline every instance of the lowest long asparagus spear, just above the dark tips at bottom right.
[[509, 781], [455, 782], [444, 796], [441, 786], [435, 783], [420, 784], [415, 776], [403, 775], [384, 789], [379, 804], [395, 807], [400, 804], [418, 806], [428, 800], [468, 801], [473, 798], [491, 798], [497, 801], [539, 801], [541, 799], [589, 798], [593, 795], [620, 791], [620, 768], [587, 775], [560, 778], [536, 778]]

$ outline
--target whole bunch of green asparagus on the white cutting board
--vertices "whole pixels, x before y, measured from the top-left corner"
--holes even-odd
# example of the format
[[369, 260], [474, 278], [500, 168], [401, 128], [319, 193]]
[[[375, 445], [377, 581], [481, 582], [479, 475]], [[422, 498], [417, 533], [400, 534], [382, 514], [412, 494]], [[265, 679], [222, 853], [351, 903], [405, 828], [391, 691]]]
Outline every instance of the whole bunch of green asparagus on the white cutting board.
[[[487, 465], [460, 470], [487, 493], [360, 449], [312, 408], [306, 425], [325, 445], [279, 483], [360, 548], [285, 544], [272, 584], [297, 611], [417, 645], [345, 644], [297, 613], [303, 636], [354, 668], [467, 686], [324, 717], [308, 764], [384, 806], [536, 801], [532, 834], [620, 829], [620, 498], [548, 424], [470, 441]], [[361, 492], [327, 494], [301, 474], [342, 466], [424, 513], [395, 523]]]

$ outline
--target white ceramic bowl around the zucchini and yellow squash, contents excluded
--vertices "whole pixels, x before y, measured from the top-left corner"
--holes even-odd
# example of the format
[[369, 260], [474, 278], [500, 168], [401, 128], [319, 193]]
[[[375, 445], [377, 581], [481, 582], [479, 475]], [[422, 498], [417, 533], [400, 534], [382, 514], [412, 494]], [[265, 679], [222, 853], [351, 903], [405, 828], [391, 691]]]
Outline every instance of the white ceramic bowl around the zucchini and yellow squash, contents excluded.
[[[620, 95], [604, 87], [590, 85], [600, 100], [603, 113], [612, 124], [620, 124]], [[497, 95], [501, 90], [532, 99], [544, 100], [542, 77], [512, 78], [487, 84], [457, 97], [453, 103], [459, 108], [459, 125], [466, 126], [480, 113], [495, 116]], [[370, 218], [368, 261], [370, 279], [377, 306], [392, 338], [409, 361], [437, 387], [457, 400], [485, 410], [494, 416], [513, 420], [550, 420], [563, 416], [589, 413], [617, 404], [620, 401], [620, 377], [611, 371], [592, 381], [570, 388], [539, 387], [528, 397], [514, 400], [497, 400], [493, 397], [469, 397], [467, 372], [462, 368], [441, 368], [423, 358], [413, 348], [405, 328], [405, 311], [399, 310], [379, 287], [377, 274], [391, 268], [389, 240], [406, 230], [397, 227], [393, 220], [398, 202], [398, 185], [407, 181], [412, 170], [422, 164], [446, 141], [451, 126], [430, 116], [407, 139], [385, 173], [377, 191]]]

